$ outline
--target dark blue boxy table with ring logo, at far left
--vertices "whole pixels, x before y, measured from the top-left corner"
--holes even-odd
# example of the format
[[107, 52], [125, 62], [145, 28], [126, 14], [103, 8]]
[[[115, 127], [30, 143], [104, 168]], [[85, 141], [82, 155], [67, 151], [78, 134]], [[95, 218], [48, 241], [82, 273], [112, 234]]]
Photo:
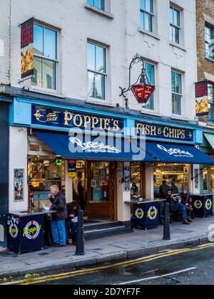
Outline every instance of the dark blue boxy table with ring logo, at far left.
[[44, 248], [44, 220], [56, 211], [11, 212], [7, 217], [9, 251], [27, 253]]

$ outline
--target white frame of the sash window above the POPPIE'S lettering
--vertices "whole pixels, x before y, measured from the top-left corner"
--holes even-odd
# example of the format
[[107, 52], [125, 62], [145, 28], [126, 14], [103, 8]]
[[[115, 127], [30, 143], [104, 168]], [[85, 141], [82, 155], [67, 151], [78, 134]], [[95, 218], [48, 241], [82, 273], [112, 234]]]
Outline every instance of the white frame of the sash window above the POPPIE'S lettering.
[[[93, 46], [96, 46], [96, 47], [100, 47], [100, 48], [103, 48], [105, 50], [105, 56], [106, 56], [106, 72], [99, 72], [98, 70], [93, 70], [91, 68], [88, 68], [88, 43], [91, 43]], [[87, 99], [90, 101], [92, 100], [93, 102], [99, 102], [99, 103], [105, 103], [107, 102], [107, 88], [106, 86], [108, 85], [108, 47], [107, 46], [103, 46], [102, 44], [100, 43], [96, 43], [94, 41], [90, 41], [88, 40], [87, 43], [86, 43], [86, 47], [87, 47]], [[89, 95], [89, 76], [88, 76], [88, 73], [93, 73], [93, 74], [98, 74], [98, 75], [103, 75], [104, 76], [104, 98], [103, 99], [100, 99], [100, 98], [93, 98], [93, 97], [90, 97]]]

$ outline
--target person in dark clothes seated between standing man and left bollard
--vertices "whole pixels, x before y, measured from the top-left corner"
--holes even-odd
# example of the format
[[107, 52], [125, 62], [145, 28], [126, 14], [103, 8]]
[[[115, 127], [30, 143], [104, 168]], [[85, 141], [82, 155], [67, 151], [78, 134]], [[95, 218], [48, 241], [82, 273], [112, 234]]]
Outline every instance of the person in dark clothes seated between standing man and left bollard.
[[78, 211], [81, 209], [78, 201], [67, 204], [68, 218], [66, 219], [66, 227], [68, 234], [68, 244], [76, 244], [76, 234], [78, 227]]

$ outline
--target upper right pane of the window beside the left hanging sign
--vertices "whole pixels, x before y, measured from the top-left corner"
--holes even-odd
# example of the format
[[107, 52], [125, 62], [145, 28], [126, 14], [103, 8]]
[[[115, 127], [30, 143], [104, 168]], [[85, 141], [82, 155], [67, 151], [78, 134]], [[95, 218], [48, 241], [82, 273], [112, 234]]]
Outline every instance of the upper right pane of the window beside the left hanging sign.
[[44, 28], [44, 56], [56, 59], [56, 31]]

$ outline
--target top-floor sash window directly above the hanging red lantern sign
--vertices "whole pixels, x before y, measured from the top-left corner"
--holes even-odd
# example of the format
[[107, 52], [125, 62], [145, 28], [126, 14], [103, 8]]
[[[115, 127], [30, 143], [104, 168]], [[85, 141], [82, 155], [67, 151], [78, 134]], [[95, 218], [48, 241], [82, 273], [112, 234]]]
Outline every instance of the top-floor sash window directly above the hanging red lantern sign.
[[141, 0], [141, 28], [153, 32], [153, 0]]

